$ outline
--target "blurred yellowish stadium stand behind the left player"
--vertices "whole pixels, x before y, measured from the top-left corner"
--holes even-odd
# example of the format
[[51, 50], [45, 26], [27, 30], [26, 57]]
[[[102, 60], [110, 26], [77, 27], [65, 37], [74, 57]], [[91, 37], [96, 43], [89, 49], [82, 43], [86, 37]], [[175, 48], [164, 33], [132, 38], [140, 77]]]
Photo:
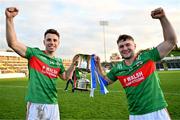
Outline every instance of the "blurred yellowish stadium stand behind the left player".
[[[65, 68], [70, 66], [71, 60], [63, 59]], [[3, 74], [7, 74], [7, 78], [10, 77], [10, 73], [14, 76], [17, 75], [27, 76], [28, 75], [28, 61], [25, 58], [20, 57], [12, 50], [0, 51], [0, 77]], [[19, 74], [21, 73], [21, 74]]]

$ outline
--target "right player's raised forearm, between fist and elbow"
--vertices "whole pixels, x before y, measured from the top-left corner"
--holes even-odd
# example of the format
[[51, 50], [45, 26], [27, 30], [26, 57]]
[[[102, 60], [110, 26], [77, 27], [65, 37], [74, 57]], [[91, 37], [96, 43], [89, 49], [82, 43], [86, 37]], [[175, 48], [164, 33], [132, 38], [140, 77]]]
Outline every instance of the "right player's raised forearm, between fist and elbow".
[[160, 23], [163, 29], [164, 40], [169, 44], [171, 44], [172, 46], [175, 46], [177, 43], [176, 34], [167, 17], [166, 16], [162, 17], [160, 19]]

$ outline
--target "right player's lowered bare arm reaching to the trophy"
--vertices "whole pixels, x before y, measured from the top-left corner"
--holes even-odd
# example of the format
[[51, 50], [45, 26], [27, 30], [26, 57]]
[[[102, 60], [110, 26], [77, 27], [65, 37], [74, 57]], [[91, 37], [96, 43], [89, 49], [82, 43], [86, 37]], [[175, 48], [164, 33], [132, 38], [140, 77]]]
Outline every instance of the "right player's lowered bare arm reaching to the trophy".
[[112, 84], [113, 81], [110, 80], [104, 73], [104, 70], [102, 69], [102, 66], [101, 66], [101, 63], [100, 63], [100, 58], [98, 56], [95, 56], [95, 62], [96, 62], [96, 67], [97, 67], [97, 70], [98, 70], [98, 73], [103, 76], [103, 78], [108, 82], [108, 85], [109, 84]]

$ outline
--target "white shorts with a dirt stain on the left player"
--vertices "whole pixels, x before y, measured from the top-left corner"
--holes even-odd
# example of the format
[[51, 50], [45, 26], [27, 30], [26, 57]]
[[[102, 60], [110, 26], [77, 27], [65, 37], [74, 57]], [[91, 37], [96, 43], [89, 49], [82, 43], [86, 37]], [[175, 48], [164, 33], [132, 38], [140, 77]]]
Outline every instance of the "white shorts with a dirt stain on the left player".
[[28, 102], [26, 120], [60, 120], [58, 104]]

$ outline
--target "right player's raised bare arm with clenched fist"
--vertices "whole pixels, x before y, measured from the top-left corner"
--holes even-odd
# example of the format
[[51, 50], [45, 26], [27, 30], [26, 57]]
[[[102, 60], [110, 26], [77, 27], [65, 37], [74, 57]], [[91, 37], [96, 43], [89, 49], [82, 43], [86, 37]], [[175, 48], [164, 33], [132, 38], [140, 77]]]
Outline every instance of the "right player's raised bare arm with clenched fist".
[[160, 20], [163, 29], [164, 41], [157, 46], [160, 57], [163, 58], [175, 47], [177, 43], [176, 34], [162, 8], [157, 8], [152, 11], [151, 16], [154, 19]]

